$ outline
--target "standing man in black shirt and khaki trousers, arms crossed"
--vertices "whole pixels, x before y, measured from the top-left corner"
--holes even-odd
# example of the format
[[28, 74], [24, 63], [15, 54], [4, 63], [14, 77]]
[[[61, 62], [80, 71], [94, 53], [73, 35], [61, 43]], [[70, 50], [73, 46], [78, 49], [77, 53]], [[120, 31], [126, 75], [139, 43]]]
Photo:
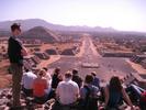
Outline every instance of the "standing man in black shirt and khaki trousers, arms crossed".
[[21, 79], [23, 74], [23, 56], [27, 55], [26, 48], [22, 45], [18, 36], [21, 35], [20, 25], [14, 23], [11, 25], [12, 36], [8, 41], [8, 55], [12, 68], [12, 96], [13, 108], [21, 106]]

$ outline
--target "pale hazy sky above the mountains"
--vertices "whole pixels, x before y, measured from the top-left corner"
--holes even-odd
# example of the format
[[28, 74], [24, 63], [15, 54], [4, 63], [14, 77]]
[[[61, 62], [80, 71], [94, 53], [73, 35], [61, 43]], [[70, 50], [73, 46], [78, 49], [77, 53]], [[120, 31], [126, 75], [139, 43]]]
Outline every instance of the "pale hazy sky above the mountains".
[[146, 32], [146, 0], [0, 0], [0, 21], [36, 18]]

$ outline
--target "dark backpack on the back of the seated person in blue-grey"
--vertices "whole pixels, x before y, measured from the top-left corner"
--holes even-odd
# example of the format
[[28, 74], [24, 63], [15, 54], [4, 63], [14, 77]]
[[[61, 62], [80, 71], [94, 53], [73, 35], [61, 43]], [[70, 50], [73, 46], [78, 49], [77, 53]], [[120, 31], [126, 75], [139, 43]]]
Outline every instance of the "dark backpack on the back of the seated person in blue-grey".
[[88, 86], [85, 86], [87, 90], [83, 110], [98, 110], [98, 100], [93, 97], [93, 90], [91, 90]]

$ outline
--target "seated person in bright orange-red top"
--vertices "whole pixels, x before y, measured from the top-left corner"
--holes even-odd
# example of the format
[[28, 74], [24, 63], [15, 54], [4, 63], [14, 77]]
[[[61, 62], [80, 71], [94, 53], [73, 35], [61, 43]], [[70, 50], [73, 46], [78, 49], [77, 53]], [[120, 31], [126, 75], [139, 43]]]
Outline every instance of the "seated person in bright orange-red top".
[[43, 76], [44, 70], [42, 69], [38, 72], [37, 78], [33, 81], [33, 96], [37, 103], [43, 103], [48, 99], [48, 92], [46, 92], [46, 89], [48, 89], [48, 84], [46, 78]]

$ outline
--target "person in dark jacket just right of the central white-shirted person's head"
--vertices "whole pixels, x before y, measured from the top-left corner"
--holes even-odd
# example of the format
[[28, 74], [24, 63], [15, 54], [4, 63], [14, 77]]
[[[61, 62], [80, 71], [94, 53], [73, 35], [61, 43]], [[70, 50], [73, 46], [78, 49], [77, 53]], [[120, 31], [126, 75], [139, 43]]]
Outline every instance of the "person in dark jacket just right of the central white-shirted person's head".
[[82, 79], [79, 77], [77, 69], [72, 69], [72, 81], [77, 82], [79, 88], [82, 86]]

